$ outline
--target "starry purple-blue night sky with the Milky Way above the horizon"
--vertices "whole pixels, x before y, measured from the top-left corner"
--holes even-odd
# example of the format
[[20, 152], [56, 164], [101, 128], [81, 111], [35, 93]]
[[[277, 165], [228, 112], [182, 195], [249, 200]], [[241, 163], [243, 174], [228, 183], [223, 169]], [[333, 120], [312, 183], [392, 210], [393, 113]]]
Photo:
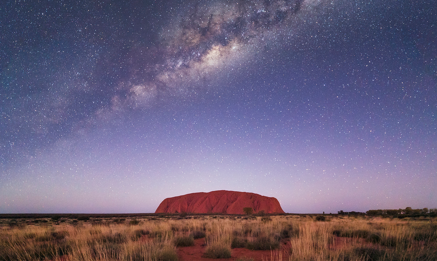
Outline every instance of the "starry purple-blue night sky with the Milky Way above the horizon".
[[[426, 2], [426, 1], [425, 1]], [[437, 207], [437, 4], [0, 3], [0, 212]]]

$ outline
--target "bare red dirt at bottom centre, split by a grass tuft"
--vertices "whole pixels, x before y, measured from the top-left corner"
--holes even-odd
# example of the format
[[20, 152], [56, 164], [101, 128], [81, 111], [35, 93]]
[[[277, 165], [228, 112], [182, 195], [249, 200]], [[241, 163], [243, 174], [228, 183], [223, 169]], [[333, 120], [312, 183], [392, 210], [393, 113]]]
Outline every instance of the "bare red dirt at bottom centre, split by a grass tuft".
[[[289, 243], [286, 241], [281, 242], [281, 251], [282, 256], [285, 259], [288, 259], [288, 253], [289, 250]], [[275, 253], [276, 252], [276, 253]], [[205, 254], [205, 239], [199, 238], [194, 240], [194, 246], [191, 247], [178, 247], [177, 248], [177, 257], [181, 261], [199, 261], [199, 260], [276, 260], [277, 256], [275, 258], [275, 254], [277, 254], [278, 251], [270, 251], [270, 250], [249, 250], [246, 248], [233, 248], [231, 250], [231, 258], [223, 258], [223, 259], [215, 259], [215, 258], [205, 258], [203, 255]]]

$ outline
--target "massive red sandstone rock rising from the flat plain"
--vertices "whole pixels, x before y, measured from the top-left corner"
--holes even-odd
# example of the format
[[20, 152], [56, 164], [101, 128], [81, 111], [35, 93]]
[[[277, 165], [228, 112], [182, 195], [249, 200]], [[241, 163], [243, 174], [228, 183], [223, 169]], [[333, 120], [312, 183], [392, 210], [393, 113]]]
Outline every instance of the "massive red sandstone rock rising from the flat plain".
[[245, 214], [243, 208], [251, 207], [253, 212], [285, 213], [276, 198], [255, 193], [218, 190], [198, 192], [166, 198], [155, 213], [225, 213]]

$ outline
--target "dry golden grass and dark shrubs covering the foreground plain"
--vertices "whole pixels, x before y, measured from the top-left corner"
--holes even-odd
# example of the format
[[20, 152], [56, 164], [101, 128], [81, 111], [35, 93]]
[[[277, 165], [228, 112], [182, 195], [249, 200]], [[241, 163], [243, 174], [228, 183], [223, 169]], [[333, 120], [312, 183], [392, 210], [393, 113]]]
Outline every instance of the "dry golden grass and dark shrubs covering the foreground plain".
[[142, 216], [1, 219], [0, 260], [177, 260], [267, 250], [264, 260], [437, 260], [437, 219], [365, 216]]

